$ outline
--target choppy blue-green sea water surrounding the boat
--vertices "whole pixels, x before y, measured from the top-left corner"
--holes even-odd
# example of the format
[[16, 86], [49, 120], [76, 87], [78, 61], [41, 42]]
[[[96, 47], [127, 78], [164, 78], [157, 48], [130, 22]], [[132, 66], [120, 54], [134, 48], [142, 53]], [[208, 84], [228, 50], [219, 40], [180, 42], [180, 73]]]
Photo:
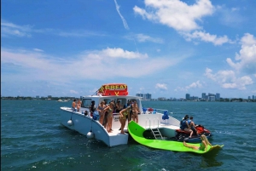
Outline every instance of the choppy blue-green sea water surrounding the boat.
[[143, 101], [211, 130], [224, 148], [210, 156], [88, 140], [61, 126], [60, 107], [70, 105], [1, 100], [1, 170], [256, 170], [256, 103]]

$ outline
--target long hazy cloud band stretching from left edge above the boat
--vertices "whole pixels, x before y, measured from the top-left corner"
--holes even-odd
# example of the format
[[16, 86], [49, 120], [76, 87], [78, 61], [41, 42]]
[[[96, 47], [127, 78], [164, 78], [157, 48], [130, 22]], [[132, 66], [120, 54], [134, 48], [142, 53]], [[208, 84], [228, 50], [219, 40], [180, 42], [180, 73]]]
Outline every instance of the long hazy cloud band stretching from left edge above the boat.
[[[53, 57], [42, 52], [1, 49], [1, 64], [9, 61], [16, 67], [11, 73], [2, 70], [1, 76], [12, 80], [38, 80], [65, 83], [84, 79], [113, 77], [142, 77], [174, 66], [180, 59], [149, 58], [148, 54], [127, 51], [122, 48], [105, 48], [86, 51], [83, 54]], [[4, 67], [8, 68], [8, 67]], [[129, 70], [129, 71], [128, 71]]]

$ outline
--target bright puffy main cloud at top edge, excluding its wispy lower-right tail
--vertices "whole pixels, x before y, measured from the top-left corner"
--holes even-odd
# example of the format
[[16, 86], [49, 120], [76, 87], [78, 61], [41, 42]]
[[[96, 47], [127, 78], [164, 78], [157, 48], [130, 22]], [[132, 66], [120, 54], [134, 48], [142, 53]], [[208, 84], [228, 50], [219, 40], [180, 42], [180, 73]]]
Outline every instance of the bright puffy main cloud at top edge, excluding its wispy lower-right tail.
[[143, 19], [159, 22], [174, 28], [177, 31], [193, 31], [201, 28], [196, 20], [213, 13], [213, 6], [209, 0], [198, 0], [193, 5], [188, 5], [179, 0], [145, 0], [146, 9], [137, 6], [133, 8], [136, 14]]

